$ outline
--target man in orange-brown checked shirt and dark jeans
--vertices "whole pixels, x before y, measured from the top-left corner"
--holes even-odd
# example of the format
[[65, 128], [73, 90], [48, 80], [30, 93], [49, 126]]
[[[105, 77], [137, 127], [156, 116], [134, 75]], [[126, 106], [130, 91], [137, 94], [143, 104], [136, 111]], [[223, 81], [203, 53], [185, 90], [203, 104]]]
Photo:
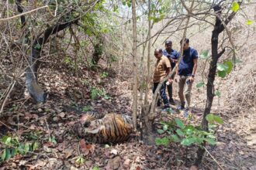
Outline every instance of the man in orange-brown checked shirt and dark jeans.
[[[154, 76], [153, 76], [153, 93], [157, 89], [158, 83], [164, 79], [170, 73], [171, 63], [166, 56], [163, 56], [162, 49], [155, 49], [154, 56], [157, 58], [157, 63], [154, 65]], [[160, 89], [161, 98], [164, 100], [164, 110], [169, 110], [170, 105], [168, 102], [168, 97], [165, 93], [166, 84], [163, 83]], [[157, 107], [161, 106], [161, 100], [157, 100]]]

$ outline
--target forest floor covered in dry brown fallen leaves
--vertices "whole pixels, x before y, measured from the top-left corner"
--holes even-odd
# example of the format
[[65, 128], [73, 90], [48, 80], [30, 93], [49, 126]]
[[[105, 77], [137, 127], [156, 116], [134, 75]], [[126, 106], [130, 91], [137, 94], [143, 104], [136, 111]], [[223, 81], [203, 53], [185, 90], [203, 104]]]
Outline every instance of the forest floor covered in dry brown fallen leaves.
[[[54, 65], [54, 64], [53, 64]], [[104, 70], [109, 72], [109, 70]], [[101, 70], [100, 72], [104, 72]], [[67, 110], [67, 106], [104, 113], [131, 114], [132, 90], [130, 83], [118, 74], [81, 71], [81, 77], [71, 76], [71, 70], [41, 69], [40, 83], [47, 89], [45, 104], [34, 104], [32, 99], [14, 98], [5, 106], [5, 117], [0, 120], [3, 135], [19, 137], [19, 143], [39, 145], [26, 155], [16, 155], [0, 162], [0, 169], [189, 169], [195, 161], [197, 147], [185, 148], [171, 144], [168, 147], [140, 143], [140, 134], [116, 145], [99, 145], [86, 142], [71, 133], [72, 125], [81, 114]], [[121, 76], [122, 77], [122, 76]], [[90, 97], [90, 87], [104, 88], [97, 100]], [[225, 83], [223, 83], [225, 84]], [[177, 84], [174, 84], [176, 89]], [[20, 88], [16, 93], [23, 93]], [[176, 93], [176, 90], [175, 90]], [[205, 87], [192, 91], [192, 122], [199, 124], [205, 107]], [[82, 95], [81, 95], [82, 94]], [[178, 96], [174, 95], [178, 104]], [[224, 124], [216, 131], [217, 144], [207, 146], [209, 154], [199, 169], [256, 169], [256, 115], [255, 110], [233, 114], [230, 104], [215, 98], [213, 113], [219, 114]], [[175, 106], [173, 106], [175, 107]], [[156, 121], [171, 121], [182, 114], [157, 111]], [[0, 144], [1, 151], [8, 146]], [[215, 160], [213, 160], [213, 158]], [[84, 163], [79, 165], [79, 162]], [[192, 169], [192, 168], [191, 168]]]

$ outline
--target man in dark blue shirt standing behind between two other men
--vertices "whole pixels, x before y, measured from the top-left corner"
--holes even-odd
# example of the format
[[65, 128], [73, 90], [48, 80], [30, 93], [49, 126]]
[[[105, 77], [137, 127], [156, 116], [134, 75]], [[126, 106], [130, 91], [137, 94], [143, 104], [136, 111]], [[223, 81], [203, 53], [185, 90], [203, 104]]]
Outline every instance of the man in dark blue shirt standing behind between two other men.
[[[171, 63], [171, 70], [175, 68], [175, 65], [178, 61], [178, 52], [175, 49], [172, 49], [172, 42], [170, 40], [165, 42], [165, 49], [163, 52], [164, 56], [167, 56]], [[174, 76], [171, 77], [173, 79]], [[167, 86], [168, 94], [169, 94], [169, 102], [170, 104], [175, 105], [175, 100], [172, 98], [172, 80], [169, 79], [169, 85]]]

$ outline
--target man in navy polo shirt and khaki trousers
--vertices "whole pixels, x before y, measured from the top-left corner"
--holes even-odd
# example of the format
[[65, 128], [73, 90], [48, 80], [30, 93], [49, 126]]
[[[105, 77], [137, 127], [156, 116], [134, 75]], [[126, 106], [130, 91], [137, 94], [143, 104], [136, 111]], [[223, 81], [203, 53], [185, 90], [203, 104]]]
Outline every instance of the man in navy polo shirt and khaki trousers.
[[[189, 46], [189, 39], [181, 40], [183, 44], [183, 57], [178, 65], [178, 72], [175, 75], [175, 82], [178, 81], [178, 96], [181, 100], [179, 110], [184, 110], [184, 116], [189, 115], [189, 106], [191, 99], [192, 83], [194, 82], [195, 72], [197, 69], [198, 53], [195, 49]], [[185, 98], [183, 91], [185, 89]]]

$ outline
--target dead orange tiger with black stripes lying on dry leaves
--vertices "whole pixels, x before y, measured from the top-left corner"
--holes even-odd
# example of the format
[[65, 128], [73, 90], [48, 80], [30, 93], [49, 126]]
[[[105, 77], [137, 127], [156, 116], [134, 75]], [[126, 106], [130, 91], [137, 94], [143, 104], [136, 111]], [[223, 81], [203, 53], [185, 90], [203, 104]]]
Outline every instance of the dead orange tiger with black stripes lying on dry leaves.
[[116, 143], [130, 137], [133, 123], [128, 115], [89, 113], [81, 117], [81, 122], [76, 124], [74, 131], [88, 141]]

